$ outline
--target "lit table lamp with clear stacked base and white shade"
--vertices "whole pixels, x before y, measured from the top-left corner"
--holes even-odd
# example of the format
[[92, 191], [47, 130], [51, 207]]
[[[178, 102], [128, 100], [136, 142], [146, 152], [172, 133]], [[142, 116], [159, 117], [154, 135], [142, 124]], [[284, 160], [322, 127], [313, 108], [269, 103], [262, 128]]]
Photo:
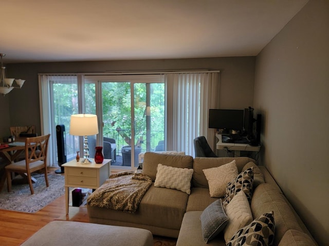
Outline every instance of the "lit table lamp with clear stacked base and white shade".
[[90, 163], [88, 136], [98, 134], [98, 121], [95, 114], [73, 114], [70, 121], [70, 134], [84, 136], [83, 160], [82, 163]]

